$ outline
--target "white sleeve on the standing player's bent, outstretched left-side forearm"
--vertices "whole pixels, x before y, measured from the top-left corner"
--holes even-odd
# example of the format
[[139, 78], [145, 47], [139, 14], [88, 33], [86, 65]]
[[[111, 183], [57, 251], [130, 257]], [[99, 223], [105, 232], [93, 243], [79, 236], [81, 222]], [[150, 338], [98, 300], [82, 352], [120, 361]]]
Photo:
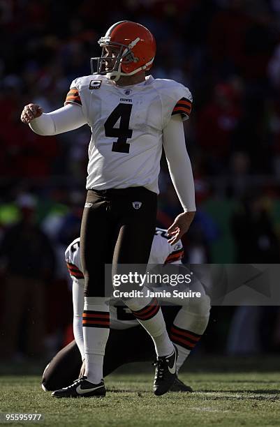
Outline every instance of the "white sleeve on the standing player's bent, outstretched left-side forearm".
[[79, 105], [67, 104], [59, 110], [43, 113], [38, 119], [32, 120], [29, 126], [38, 135], [57, 135], [78, 129], [86, 123], [82, 108]]

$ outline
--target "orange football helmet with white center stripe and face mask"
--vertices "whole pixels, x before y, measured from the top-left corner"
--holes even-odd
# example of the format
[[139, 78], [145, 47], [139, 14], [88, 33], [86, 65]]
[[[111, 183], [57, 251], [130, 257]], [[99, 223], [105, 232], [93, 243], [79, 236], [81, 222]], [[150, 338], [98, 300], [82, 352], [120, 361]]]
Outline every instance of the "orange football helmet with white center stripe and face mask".
[[[91, 58], [91, 73], [106, 75], [117, 82], [121, 75], [133, 75], [152, 68], [156, 54], [156, 41], [141, 24], [120, 21], [108, 29], [98, 40], [103, 47], [101, 57]], [[97, 70], [94, 72], [94, 61]]]

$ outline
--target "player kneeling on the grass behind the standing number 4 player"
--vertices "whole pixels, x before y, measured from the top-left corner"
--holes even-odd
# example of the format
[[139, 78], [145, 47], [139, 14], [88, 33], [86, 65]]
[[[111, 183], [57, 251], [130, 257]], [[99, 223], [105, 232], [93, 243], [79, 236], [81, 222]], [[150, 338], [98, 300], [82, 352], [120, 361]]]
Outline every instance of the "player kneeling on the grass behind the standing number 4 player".
[[[166, 230], [156, 228], [149, 264], [182, 264], [184, 248], [182, 241], [168, 244]], [[47, 365], [43, 373], [42, 387], [45, 391], [56, 390], [71, 384], [78, 378], [84, 361], [84, 341], [82, 334], [82, 308], [84, 276], [80, 263], [80, 238], [68, 246], [65, 253], [66, 264], [73, 280], [73, 331], [75, 340], [66, 345]], [[156, 290], [161, 290], [157, 287]], [[202, 290], [203, 292], [203, 290]], [[163, 300], [164, 301], [164, 300]], [[186, 301], [184, 301], [186, 303]], [[116, 301], [115, 301], [116, 303]], [[110, 335], [105, 352], [104, 375], [110, 374], [128, 362], [152, 361], [154, 357], [152, 340], [138, 326], [131, 310], [124, 305], [110, 306]], [[189, 299], [186, 306], [162, 306], [165, 323], [170, 338], [178, 349], [177, 373], [204, 333], [209, 320], [209, 297]], [[176, 377], [171, 391], [192, 391]]]

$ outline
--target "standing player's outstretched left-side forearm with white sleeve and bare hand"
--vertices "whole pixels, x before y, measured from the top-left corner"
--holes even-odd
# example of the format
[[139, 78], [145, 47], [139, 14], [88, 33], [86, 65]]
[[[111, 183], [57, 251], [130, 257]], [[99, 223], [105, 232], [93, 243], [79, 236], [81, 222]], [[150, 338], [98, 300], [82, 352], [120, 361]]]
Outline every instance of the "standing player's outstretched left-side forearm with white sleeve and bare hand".
[[80, 105], [71, 103], [59, 110], [44, 113], [37, 104], [25, 105], [20, 117], [38, 135], [57, 135], [80, 128], [87, 123]]

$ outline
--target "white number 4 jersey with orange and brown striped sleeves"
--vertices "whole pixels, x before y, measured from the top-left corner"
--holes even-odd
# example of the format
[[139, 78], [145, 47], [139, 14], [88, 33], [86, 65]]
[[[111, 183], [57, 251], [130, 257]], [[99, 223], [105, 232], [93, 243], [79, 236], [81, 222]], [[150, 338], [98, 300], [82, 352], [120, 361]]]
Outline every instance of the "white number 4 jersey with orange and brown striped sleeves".
[[129, 87], [89, 75], [73, 80], [66, 103], [81, 105], [91, 127], [87, 189], [144, 186], [159, 193], [163, 128], [173, 114], [189, 117], [189, 89], [152, 75]]

